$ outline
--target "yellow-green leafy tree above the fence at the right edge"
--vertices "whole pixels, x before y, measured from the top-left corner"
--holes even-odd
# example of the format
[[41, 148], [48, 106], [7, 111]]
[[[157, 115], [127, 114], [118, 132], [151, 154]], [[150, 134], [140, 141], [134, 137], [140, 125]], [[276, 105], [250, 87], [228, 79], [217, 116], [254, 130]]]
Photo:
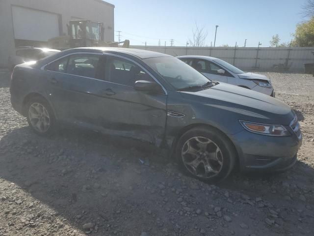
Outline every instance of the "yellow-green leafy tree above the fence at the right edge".
[[314, 16], [309, 21], [297, 24], [293, 36], [294, 47], [314, 47]]

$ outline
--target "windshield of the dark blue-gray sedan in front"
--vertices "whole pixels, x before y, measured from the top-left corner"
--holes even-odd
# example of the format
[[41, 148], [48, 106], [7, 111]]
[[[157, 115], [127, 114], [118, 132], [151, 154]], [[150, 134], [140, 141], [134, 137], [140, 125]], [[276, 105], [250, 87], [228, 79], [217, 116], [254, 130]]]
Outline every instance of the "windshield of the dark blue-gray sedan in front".
[[208, 78], [177, 58], [148, 58], [144, 59], [144, 61], [176, 90], [204, 86], [204, 84], [209, 82]]

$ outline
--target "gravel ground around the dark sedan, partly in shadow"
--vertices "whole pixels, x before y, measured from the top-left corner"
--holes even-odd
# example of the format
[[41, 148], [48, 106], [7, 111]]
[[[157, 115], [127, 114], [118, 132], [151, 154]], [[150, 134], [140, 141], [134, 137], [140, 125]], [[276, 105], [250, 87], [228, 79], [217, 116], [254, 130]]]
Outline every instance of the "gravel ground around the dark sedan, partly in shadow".
[[300, 120], [298, 162], [209, 185], [142, 143], [81, 130], [35, 135], [0, 71], [0, 236], [313, 236], [314, 77], [263, 74]]

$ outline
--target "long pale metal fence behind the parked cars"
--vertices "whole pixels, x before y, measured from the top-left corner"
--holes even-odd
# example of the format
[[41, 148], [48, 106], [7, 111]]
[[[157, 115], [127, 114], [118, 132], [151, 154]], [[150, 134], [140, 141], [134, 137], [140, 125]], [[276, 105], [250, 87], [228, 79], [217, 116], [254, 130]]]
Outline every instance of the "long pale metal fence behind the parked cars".
[[304, 71], [304, 64], [314, 63], [314, 47], [164, 47], [136, 46], [131, 48], [144, 49], [172, 56], [199, 55], [210, 56], [228, 61], [243, 70], [276, 70]]

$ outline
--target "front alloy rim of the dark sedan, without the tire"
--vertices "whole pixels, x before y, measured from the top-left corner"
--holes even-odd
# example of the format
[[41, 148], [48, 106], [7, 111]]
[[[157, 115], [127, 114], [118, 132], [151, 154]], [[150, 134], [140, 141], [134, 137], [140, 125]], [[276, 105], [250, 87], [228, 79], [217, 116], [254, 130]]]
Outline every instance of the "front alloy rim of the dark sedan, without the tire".
[[197, 177], [216, 176], [223, 166], [220, 148], [205, 137], [193, 137], [187, 140], [181, 155], [185, 168]]

